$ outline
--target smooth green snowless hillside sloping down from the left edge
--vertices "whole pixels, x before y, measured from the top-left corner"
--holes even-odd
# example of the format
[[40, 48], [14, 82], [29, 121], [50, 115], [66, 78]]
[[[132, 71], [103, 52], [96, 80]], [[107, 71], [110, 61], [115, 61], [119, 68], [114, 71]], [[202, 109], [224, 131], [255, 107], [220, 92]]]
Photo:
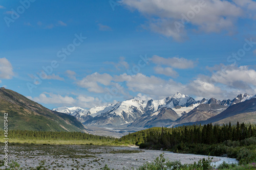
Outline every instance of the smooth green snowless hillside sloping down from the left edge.
[[[73, 116], [52, 111], [25, 96], [0, 88], [0, 121], [8, 113], [9, 130], [86, 132]], [[3, 129], [4, 126], [1, 127]]]

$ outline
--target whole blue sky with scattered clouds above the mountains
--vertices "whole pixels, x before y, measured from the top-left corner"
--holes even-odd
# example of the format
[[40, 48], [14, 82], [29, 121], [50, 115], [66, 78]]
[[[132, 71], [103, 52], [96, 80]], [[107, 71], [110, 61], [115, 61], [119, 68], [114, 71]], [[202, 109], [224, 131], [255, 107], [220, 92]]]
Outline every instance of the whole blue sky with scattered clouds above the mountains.
[[0, 86], [50, 109], [256, 94], [255, 11], [252, 0], [0, 1]]

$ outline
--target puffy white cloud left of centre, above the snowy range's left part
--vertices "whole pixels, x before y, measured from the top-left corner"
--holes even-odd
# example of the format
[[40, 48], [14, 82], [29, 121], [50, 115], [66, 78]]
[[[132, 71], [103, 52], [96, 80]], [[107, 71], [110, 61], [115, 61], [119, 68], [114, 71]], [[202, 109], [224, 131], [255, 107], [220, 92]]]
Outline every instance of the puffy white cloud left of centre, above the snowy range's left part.
[[101, 75], [98, 72], [95, 72], [94, 74], [88, 75], [82, 80], [77, 81], [77, 85], [86, 88], [90, 92], [102, 93], [105, 90], [103, 87], [99, 86], [99, 84], [108, 86], [111, 84], [112, 79], [112, 76], [109, 74], [104, 73]]

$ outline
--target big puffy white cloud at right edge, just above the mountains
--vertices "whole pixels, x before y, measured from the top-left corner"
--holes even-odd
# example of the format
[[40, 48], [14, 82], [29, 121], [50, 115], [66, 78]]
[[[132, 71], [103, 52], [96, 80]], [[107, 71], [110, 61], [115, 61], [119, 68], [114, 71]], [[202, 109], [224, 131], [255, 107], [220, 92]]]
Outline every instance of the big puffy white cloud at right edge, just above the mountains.
[[187, 85], [187, 93], [217, 99], [231, 99], [238, 93], [256, 93], [256, 71], [248, 66], [218, 65], [209, 70], [212, 75], [199, 75]]

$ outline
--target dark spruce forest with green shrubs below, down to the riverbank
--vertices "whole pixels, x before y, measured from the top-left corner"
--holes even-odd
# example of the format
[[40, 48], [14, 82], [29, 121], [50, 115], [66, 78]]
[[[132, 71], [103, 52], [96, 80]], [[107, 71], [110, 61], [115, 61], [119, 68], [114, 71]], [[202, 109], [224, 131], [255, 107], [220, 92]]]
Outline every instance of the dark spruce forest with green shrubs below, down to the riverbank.
[[144, 149], [228, 156], [246, 164], [256, 161], [256, 124], [151, 128], [123, 136], [119, 140]]

